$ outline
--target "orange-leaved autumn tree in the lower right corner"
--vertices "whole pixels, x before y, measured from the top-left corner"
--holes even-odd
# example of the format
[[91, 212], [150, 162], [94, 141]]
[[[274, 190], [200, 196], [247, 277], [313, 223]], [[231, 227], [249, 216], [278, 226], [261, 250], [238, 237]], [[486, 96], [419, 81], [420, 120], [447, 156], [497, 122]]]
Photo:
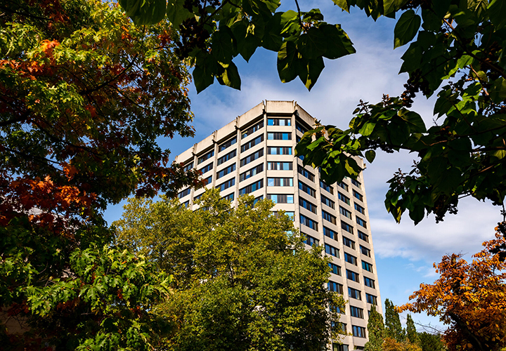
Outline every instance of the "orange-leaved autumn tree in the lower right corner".
[[443, 256], [434, 267], [441, 277], [421, 284], [401, 310], [427, 312], [449, 324], [443, 335], [448, 350], [501, 350], [506, 346], [506, 263], [493, 248], [505, 244], [501, 226], [485, 241], [472, 263], [461, 255]]

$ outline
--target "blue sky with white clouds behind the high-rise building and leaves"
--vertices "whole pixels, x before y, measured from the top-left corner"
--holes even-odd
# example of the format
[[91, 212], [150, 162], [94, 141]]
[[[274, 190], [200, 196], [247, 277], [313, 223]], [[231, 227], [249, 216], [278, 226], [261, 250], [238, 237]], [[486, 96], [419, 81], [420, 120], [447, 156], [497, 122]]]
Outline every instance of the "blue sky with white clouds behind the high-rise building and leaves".
[[[215, 83], [197, 94], [193, 85], [189, 87], [196, 135], [193, 139], [161, 140], [172, 155], [187, 150], [262, 100], [296, 100], [323, 124], [346, 128], [360, 100], [373, 103], [379, 102], [383, 93], [402, 93], [407, 76], [398, 75], [398, 69], [407, 46], [393, 49], [395, 20], [381, 18], [374, 22], [353, 9], [351, 14], [344, 13], [330, 0], [305, 1], [300, 5], [301, 11], [320, 8], [327, 22], [342, 24], [357, 53], [325, 60], [325, 69], [311, 92], [299, 79], [288, 84], [280, 82], [275, 53], [259, 49], [249, 63], [236, 58], [241, 91]], [[427, 125], [432, 125], [433, 106], [434, 99], [418, 97], [413, 110], [422, 115]], [[469, 257], [481, 251], [481, 243], [493, 237], [493, 227], [501, 220], [499, 208], [467, 199], [461, 202], [458, 215], [448, 215], [443, 223], [436, 224], [434, 217], [429, 216], [415, 226], [406, 216], [401, 224], [396, 224], [383, 204], [386, 182], [398, 168], [409, 171], [411, 164], [413, 157], [407, 153], [378, 154], [364, 172], [382, 302], [389, 298], [396, 305], [407, 303], [420, 283], [437, 279], [432, 264], [438, 263], [441, 256], [460, 252]], [[112, 223], [121, 213], [121, 205], [111, 206], [105, 217]], [[413, 319], [443, 329], [437, 318], [417, 314]]]

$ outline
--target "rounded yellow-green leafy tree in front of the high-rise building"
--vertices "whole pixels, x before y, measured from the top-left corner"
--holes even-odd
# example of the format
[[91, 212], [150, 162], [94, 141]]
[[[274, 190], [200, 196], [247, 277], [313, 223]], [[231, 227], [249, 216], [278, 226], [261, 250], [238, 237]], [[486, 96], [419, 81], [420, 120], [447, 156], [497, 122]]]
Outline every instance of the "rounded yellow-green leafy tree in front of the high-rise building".
[[208, 190], [192, 212], [167, 197], [129, 199], [115, 222], [119, 243], [173, 274], [157, 306], [175, 325], [167, 350], [322, 350], [337, 339], [344, 300], [327, 290], [330, 260], [306, 251], [271, 201], [253, 201], [231, 208]]

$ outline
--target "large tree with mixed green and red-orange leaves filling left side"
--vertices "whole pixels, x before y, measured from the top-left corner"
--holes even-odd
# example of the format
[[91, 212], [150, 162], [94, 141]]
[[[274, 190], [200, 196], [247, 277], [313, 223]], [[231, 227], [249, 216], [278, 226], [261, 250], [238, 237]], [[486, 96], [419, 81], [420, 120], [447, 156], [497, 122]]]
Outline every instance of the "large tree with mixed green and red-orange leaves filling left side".
[[110, 246], [100, 211], [199, 183], [157, 145], [193, 135], [172, 50], [167, 22], [110, 1], [1, 1], [0, 324], [26, 326], [1, 345], [143, 349], [164, 331], [168, 277]]

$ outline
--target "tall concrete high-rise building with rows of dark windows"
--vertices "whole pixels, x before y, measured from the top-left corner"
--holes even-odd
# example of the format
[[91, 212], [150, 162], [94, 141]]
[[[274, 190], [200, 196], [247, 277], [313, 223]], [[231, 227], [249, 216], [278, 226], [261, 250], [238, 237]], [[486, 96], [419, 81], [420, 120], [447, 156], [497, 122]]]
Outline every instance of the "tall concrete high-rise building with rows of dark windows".
[[[237, 117], [212, 135], [176, 157], [186, 169], [197, 168], [226, 199], [242, 194], [271, 199], [273, 211], [283, 210], [306, 235], [308, 248], [323, 245], [332, 257], [328, 289], [344, 295], [349, 303], [342, 311], [344, 345], [333, 351], [362, 350], [367, 341], [371, 305], [380, 313], [374, 249], [362, 173], [357, 180], [325, 184], [318, 169], [303, 166], [294, 147], [315, 119], [296, 102], [265, 101]], [[362, 159], [358, 164], [365, 168]], [[179, 192], [181, 203], [193, 201], [205, 189]]]

